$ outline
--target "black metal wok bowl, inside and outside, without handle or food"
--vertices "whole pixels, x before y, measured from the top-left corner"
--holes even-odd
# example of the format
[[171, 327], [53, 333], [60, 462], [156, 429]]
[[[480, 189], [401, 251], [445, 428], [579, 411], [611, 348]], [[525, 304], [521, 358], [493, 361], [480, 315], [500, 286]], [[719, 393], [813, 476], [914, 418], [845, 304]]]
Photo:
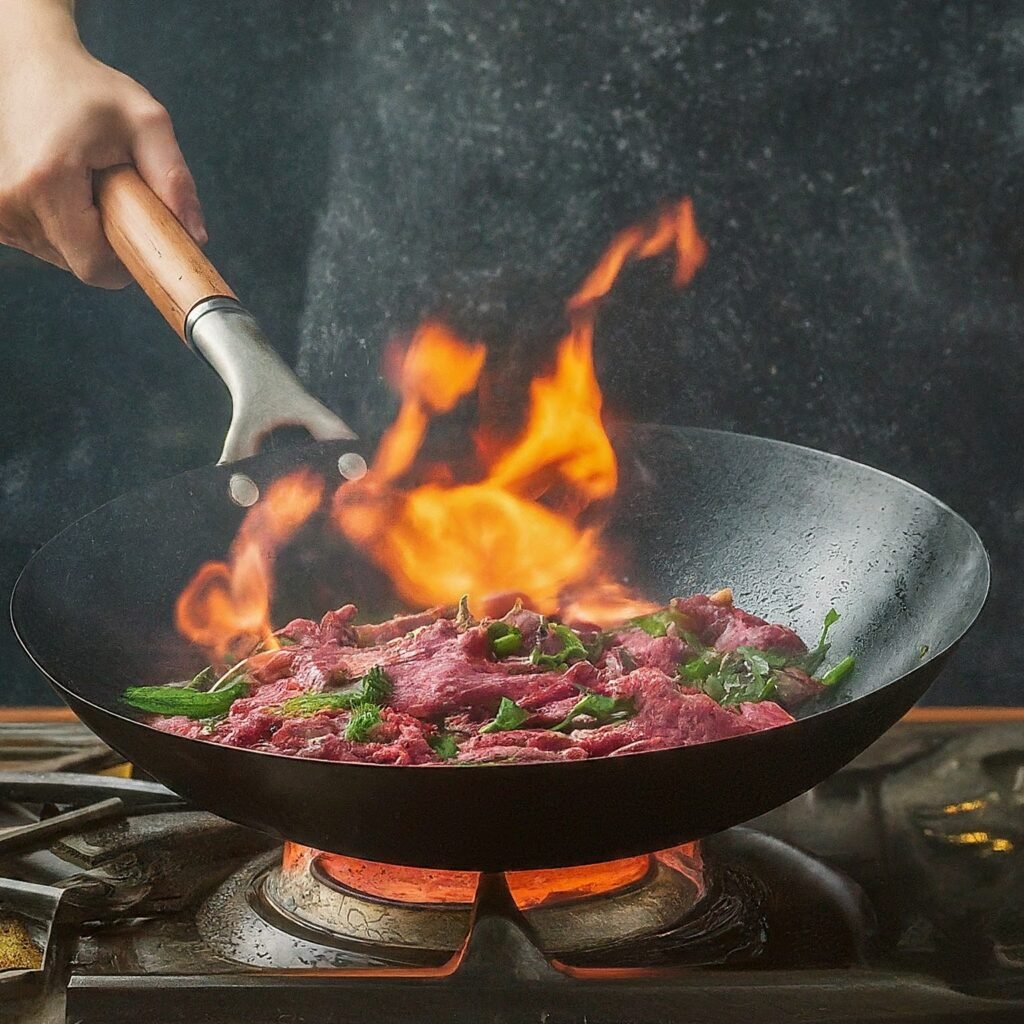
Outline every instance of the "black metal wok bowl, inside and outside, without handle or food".
[[[338, 764], [204, 743], [138, 720], [125, 687], [184, 678], [203, 663], [174, 630], [176, 595], [222, 557], [260, 486], [298, 461], [341, 482], [350, 443], [271, 453], [185, 473], [97, 509], [32, 559], [15, 629], [63, 699], [104, 740], [177, 793], [297, 842], [392, 863], [554, 867], [657, 850], [755, 817], [830, 775], [932, 682], [988, 590], [975, 531], [892, 476], [779, 441], [637, 427], [610, 536], [655, 598], [731, 586], [737, 602], [813, 640], [830, 605], [837, 656], [857, 668], [779, 729], [584, 762], [411, 768]], [[282, 556], [274, 620], [345, 601], [366, 620], [398, 610], [386, 582], [328, 529]]]

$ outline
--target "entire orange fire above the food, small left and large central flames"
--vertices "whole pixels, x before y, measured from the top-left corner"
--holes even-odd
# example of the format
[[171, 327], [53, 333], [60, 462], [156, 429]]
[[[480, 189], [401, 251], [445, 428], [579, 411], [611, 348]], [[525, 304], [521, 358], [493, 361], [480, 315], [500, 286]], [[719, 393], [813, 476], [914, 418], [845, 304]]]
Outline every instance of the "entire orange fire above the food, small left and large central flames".
[[[524, 426], [502, 447], [481, 427], [478, 472], [457, 480], [447, 465], [416, 467], [431, 420], [450, 413], [480, 383], [486, 348], [436, 322], [422, 325], [404, 351], [390, 353], [402, 401], [370, 472], [335, 494], [333, 520], [377, 562], [411, 604], [449, 604], [471, 594], [478, 608], [520, 598], [597, 626], [653, 605], [610, 575], [597, 517], [617, 485], [617, 465], [601, 418], [594, 371], [594, 324], [601, 300], [630, 261], [673, 251], [675, 281], [690, 281], [707, 255], [688, 199], [620, 232], [573, 295], [569, 329], [551, 371], [532, 381]], [[495, 388], [479, 392], [481, 422]], [[247, 514], [227, 561], [200, 567], [176, 605], [178, 630], [214, 662], [239, 658], [257, 643], [275, 646], [270, 625], [278, 550], [313, 514], [324, 481], [299, 470], [275, 481]], [[500, 612], [498, 612], [500, 613]]]

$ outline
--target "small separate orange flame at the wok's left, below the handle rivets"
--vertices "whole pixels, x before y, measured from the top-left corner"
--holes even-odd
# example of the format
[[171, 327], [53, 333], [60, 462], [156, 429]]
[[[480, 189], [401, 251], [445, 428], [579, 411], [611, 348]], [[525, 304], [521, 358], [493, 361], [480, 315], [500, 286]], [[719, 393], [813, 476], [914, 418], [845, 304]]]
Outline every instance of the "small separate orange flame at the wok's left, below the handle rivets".
[[181, 592], [174, 609], [178, 631], [207, 648], [215, 663], [244, 657], [260, 642], [276, 646], [270, 626], [273, 558], [323, 495], [323, 479], [309, 470], [275, 480], [246, 514], [228, 560], [200, 566]]

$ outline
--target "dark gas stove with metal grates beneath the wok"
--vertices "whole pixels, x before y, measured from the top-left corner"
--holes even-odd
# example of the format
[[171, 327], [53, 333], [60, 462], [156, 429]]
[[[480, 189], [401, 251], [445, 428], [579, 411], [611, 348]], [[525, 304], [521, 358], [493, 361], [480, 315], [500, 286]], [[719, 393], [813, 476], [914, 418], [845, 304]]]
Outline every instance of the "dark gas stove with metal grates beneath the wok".
[[1024, 719], [903, 722], [742, 827], [504, 876], [283, 845], [118, 761], [0, 725], [5, 1022], [1024, 1019]]

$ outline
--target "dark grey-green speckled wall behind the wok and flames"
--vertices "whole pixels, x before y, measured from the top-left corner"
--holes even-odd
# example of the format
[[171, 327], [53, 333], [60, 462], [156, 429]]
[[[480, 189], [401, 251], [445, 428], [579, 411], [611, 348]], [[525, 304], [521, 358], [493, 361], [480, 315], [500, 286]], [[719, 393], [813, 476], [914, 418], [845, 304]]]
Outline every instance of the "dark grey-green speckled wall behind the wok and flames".
[[[170, 109], [210, 254], [374, 437], [384, 342], [426, 314], [523, 381], [610, 236], [691, 194], [686, 293], [629, 270], [616, 415], [880, 466], [966, 515], [992, 599], [933, 702], [1022, 702], [1024, 8], [479, 0], [83, 3]], [[515, 8], [512, 10], [511, 8]], [[121, 492], [211, 462], [226, 396], [140, 294], [0, 255], [0, 586]], [[50, 700], [4, 628], [0, 696]]]

